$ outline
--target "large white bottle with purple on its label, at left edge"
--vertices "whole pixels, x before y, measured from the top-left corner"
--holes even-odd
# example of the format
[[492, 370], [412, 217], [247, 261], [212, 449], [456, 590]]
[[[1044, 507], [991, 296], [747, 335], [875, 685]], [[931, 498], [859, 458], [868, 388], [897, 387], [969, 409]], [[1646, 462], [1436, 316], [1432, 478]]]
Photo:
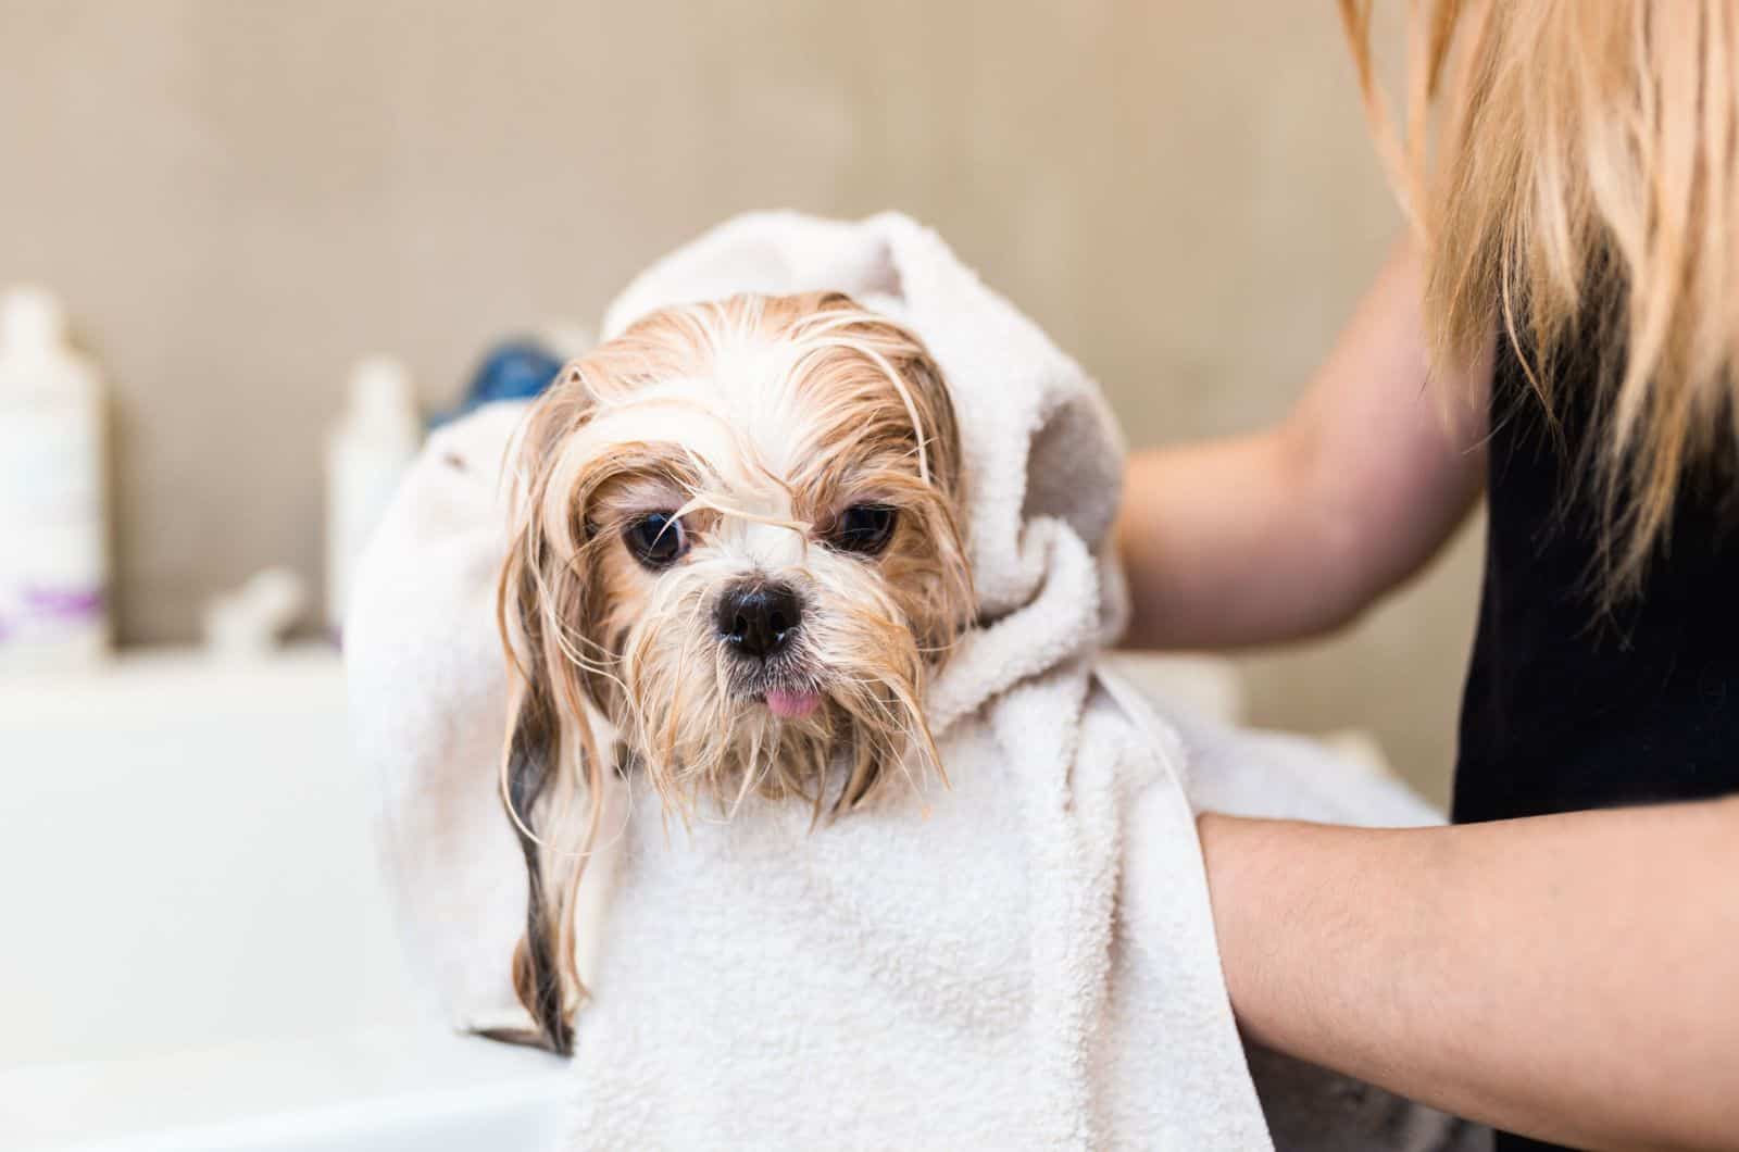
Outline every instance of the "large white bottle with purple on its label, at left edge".
[[103, 383], [50, 292], [0, 294], [0, 672], [110, 646]]

